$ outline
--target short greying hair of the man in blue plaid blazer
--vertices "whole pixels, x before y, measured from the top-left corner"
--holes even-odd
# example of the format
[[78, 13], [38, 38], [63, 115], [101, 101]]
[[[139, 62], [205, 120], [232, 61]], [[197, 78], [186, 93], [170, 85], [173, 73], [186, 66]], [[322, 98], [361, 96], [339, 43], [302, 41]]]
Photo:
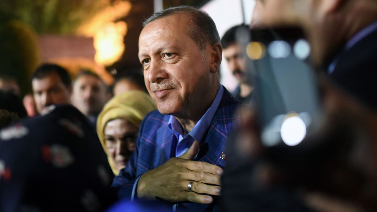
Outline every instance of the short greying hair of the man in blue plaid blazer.
[[190, 15], [190, 20], [193, 23], [193, 26], [188, 26], [189, 37], [195, 41], [196, 45], [198, 45], [202, 52], [205, 52], [205, 49], [207, 49], [209, 45], [216, 42], [220, 43], [219, 32], [217, 31], [215, 22], [213, 22], [212, 18], [206, 12], [192, 6], [177, 6], [156, 12], [143, 22], [143, 27], [156, 19], [177, 14], [179, 12]]

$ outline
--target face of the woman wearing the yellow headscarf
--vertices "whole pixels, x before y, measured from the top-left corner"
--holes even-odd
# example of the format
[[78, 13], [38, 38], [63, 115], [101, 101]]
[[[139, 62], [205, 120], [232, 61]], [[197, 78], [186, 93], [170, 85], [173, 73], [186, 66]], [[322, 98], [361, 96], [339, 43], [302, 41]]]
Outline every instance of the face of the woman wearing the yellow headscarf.
[[113, 158], [116, 169], [121, 170], [126, 167], [127, 161], [135, 150], [138, 130], [138, 127], [122, 118], [106, 123], [104, 130], [105, 144], [109, 155]]

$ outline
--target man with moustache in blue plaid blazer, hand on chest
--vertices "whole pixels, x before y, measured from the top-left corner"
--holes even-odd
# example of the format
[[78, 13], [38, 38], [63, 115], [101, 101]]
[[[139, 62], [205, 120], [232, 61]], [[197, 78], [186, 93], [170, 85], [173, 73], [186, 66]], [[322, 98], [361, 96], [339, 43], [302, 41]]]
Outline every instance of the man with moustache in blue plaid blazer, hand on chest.
[[222, 46], [215, 23], [197, 8], [179, 6], [143, 26], [139, 60], [158, 111], [144, 118], [136, 150], [112, 186], [121, 198], [217, 211], [225, 142], [239, 122], [239, 101], [219, 82]]

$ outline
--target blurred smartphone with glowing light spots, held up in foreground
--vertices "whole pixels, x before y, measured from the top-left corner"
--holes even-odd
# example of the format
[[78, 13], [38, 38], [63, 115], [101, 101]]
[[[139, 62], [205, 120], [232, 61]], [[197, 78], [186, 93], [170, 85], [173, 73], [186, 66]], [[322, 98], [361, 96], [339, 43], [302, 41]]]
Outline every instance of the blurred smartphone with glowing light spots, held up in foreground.
[[258, 29], [250, 34], [246, 53], [262, 143], [299, 145], [318, 131], [323, 117], [311, 46], [296, 28]]

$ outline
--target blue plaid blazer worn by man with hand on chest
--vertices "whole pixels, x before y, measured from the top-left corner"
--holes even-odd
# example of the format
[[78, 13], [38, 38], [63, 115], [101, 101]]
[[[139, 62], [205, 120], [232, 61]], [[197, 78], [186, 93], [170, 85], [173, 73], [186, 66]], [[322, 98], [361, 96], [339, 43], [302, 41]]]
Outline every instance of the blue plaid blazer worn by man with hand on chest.
[[[240, 102], [234, 98], [225, 88], [222, 100], [216, 110], [206, 136], [199, 141], [200, 150], [195, 160], [225, 166], [225, 160], [221, 158], [225, 152], [225, 143], [229, 132], [239, 123]], [[152, 111], [144, 118], [139, 128], [136, 141], [136, 149], [133, 152], [125, 169], [114, 178], [112, 187], [118, 189], [120, 198], [130, 199], [136, 179], [145, 172], [164, 164], [174, 157], [176, 138], [167, 126], [169, 115]], [[174, 148], [174, 147], [173, 147]], [[136, 198], [136, 195], [135, 195]], [[217, 206], [198, 203], [182, 203], [178, 208], [185, 207], [189, 211], [217, 210]], [[208, 208], [209, 207], [209, 208]]]

